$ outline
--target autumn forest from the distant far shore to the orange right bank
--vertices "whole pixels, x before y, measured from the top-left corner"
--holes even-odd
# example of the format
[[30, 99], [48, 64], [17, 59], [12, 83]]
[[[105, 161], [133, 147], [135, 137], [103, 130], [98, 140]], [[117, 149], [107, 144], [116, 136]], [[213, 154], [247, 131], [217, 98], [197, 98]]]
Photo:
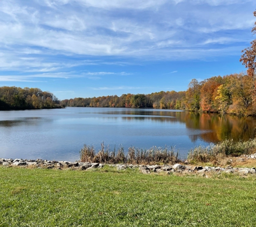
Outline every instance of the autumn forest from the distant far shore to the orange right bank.
[[160, 91], [151, 94], [123, 94], [63, 100], [64, 107], [126, 107], [182, 109], [202, 112], [254, 115], [254, 79], [244, 73], [213, 76], [198, 82], [193, 79], [186, 91]]

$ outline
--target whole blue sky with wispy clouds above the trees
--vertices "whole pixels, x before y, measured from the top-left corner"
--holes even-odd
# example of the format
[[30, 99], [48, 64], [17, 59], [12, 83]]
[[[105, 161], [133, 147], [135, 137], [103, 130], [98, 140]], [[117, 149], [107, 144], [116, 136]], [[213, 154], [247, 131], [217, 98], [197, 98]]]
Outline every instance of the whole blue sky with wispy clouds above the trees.
[[255, 0], [0, 0], [0, 87], [59, 100], [245, 72]]

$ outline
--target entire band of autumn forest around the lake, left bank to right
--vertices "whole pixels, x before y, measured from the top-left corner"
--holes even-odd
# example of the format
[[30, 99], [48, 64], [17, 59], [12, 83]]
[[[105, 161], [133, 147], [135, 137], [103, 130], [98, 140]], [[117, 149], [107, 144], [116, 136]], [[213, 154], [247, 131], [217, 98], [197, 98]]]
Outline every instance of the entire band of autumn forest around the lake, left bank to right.
[[245, 73], [193, 79], [186, 91], [123, 94], [59, 101], [39, 88], [0, 87], [0, 110], [52, 109], [63, 107], [123, 107], [181, 109], [201, 112], [256, 115], [253, 104], [254, 77]]

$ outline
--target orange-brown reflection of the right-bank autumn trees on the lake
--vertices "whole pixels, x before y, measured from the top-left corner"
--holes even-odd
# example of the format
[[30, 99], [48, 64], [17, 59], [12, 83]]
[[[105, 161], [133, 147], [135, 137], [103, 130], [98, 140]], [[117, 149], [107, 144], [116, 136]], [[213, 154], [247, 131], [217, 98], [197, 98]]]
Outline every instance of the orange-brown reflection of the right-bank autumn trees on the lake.
[[[99, 112], [98, 112], [99, 114]], [[253, 117], [237, 117], [217, 113], [193, 113], [188, 111], [108, 111], [101, 114], [122, 115], [122, 120], [151, 120], [161, 123], [184, 123], [187, 129], [200, 130], [191, 134], [191, 141], [203, 139], [207, 143], [218, 143], [225, 139], [234, 141], [248, 140], [255, 137], [256, 120]], [[126, 115], [123, 117], [123, 115]]]

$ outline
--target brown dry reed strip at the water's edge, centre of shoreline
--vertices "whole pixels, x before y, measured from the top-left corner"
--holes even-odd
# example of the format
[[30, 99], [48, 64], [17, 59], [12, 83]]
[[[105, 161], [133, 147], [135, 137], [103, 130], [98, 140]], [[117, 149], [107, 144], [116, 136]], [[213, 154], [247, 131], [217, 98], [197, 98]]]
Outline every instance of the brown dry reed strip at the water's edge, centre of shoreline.
[[82, 162], [100, 162], [107, 164], [156, 164], [156, 163], [175, 163], [178, 161], [178, 152], [175, 152], [174, 147], [151, 147], [148, 150], [129, 147], [127, 154], [124, 153], [124, 148], [109, 151], [109, 146], [105, 147], [101, 144], [101, 150], [95, 152], [93, 146], [84, 145], [80, 150], [80, 161]]

